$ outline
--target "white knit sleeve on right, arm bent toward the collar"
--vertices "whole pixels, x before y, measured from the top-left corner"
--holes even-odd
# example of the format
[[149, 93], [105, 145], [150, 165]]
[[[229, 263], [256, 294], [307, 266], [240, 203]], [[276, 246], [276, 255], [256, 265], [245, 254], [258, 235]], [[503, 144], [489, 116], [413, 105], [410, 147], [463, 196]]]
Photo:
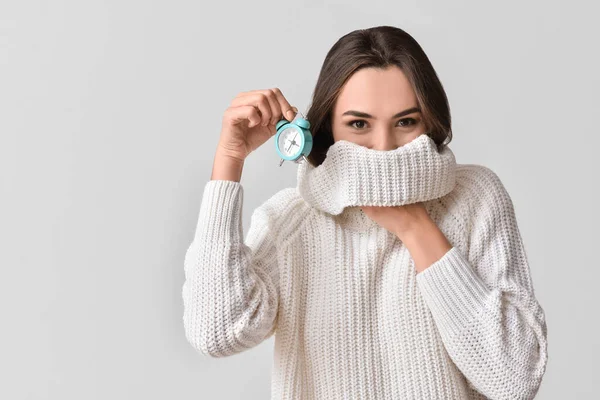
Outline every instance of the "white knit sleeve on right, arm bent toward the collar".
[[449, 356], [489, 399], [532, 399], [546, 370], [547, 329], [512, 200], [484, 167], [468, 250], [454, 246], [417, 274]]

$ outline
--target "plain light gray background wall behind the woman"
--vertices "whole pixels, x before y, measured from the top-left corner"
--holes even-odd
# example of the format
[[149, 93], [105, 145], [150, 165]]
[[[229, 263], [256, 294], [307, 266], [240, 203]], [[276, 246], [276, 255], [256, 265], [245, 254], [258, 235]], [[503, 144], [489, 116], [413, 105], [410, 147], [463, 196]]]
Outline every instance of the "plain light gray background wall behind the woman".
[[[306, 111], [329, 48], [375, 25], [419, 41], [457, 161], [511, 194], [548, 323], [538, 398], [597, 398], [597, 15], [584, 1], [2, 1], [0, 398], [268, 398], [273, 338], [211, 359], [183, 331], [222, 113], [276, 86]], [[295, 186], [278, 163], [272, 141], [247, 160], [246, 230]]]

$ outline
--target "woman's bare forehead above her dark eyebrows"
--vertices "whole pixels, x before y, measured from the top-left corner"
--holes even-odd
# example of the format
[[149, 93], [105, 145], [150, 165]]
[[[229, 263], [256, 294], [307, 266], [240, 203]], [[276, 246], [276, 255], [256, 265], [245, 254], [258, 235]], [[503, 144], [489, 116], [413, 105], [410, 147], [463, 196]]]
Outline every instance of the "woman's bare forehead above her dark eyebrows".
[[342, 87], [334, 114], [357, 110], [386, 117], [416, 105], [412, 85], [400, 68], [363, 68]]

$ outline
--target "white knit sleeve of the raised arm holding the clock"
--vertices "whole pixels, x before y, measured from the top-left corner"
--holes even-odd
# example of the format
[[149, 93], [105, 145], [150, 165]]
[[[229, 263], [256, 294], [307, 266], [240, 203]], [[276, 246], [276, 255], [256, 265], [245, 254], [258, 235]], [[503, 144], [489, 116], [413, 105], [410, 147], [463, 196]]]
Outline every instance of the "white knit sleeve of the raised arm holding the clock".
[[278, 267], [268, 203], [257, 208], [243, 240], [240, 182], [206, 183], [196, 232], [184, 260], [183, 325], [201, 354], [225, 357], [274, 331]]

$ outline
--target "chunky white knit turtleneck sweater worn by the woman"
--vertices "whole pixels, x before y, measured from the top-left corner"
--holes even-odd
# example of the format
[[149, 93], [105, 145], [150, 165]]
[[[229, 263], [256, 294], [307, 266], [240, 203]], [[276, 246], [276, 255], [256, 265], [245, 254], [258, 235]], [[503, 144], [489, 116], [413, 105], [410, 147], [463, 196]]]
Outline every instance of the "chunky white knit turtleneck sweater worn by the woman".
[[[452, 244], [416, 273], [360, 205], [423, 202]], [[185, 255], [183, 323], [201, 354], [275, 334], [272, 399], [530, 399], [544, 311], [509, 194], [427, 135], [391, 151], [340, 140], [298, 165], [242, 228], [239, 182], [210, 180]]]

